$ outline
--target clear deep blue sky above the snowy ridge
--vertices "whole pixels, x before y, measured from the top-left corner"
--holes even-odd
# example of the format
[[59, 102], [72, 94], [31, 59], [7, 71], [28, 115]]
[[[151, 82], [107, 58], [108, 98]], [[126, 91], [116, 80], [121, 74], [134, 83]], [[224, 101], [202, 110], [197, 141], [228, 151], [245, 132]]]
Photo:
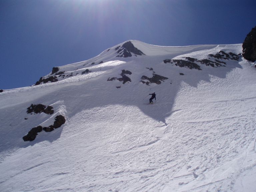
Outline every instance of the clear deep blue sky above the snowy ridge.
[[255, 0], [0, 0], [0, 89], [126, 40], [161, 46], [243, 43]]

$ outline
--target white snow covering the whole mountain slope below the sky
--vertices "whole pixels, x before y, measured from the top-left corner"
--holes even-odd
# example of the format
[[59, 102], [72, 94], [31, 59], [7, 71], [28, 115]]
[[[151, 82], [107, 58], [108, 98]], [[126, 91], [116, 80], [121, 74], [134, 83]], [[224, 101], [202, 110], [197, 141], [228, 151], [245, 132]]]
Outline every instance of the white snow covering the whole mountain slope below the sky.
[[[225, 66], [197, 70], [163, 62], [239, 54], [242, 45], [131, 42], [145, 55], [116, 57], [120, 44], [59, 67], [73, 76], [0, 93], [1, 192], [255, 191], [254, 64], [220, 59]], [[118, 80], [122, 70], [131, 81]], [[141, 82], [153, 74], [168, 79]], [[153, 92], [157, 100], [148, 105]], [[54, 114], [27, 114], [31, 104], [50, 105]], [[56, 115], [65, 124], [23, 141]]]

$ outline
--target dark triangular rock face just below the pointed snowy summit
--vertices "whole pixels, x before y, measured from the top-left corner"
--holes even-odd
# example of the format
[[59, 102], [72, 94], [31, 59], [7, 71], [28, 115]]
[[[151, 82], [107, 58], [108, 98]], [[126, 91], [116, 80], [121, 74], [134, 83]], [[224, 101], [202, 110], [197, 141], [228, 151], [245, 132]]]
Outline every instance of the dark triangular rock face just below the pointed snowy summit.
[[128, 41], [124, 43], [121, 46], [118, 46], [115, 48], [117, 51], [118, 55], [116, 57], [131, 57], [132, 53], [137, 56], [137, 55], [145, 55], [141, 50], [137, 49], [134, 47], [131, 41]]

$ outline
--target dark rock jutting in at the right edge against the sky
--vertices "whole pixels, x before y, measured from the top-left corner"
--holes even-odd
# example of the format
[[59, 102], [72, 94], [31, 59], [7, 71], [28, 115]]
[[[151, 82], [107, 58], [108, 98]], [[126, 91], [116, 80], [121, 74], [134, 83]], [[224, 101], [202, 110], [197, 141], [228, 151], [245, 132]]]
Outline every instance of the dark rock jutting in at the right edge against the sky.
[[256, 27], [252, 28], [243, 42], [243, 57], [249, 61], [256, 61]]

